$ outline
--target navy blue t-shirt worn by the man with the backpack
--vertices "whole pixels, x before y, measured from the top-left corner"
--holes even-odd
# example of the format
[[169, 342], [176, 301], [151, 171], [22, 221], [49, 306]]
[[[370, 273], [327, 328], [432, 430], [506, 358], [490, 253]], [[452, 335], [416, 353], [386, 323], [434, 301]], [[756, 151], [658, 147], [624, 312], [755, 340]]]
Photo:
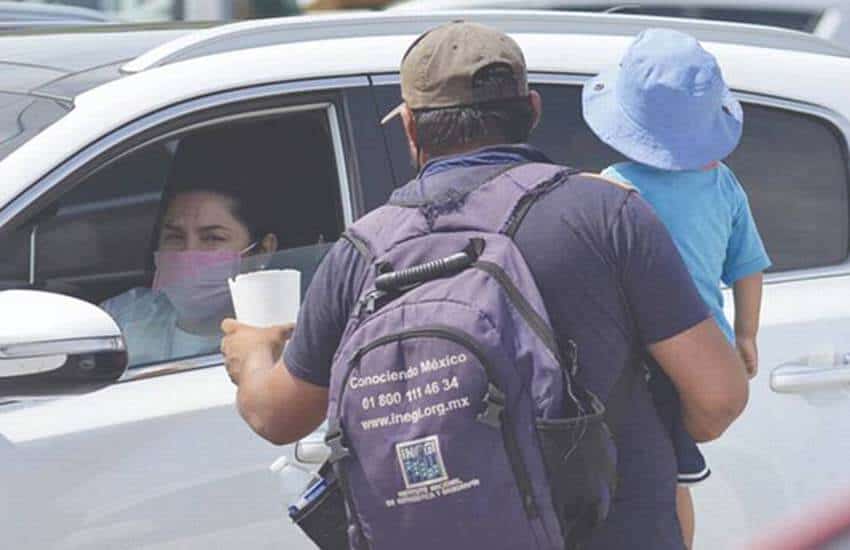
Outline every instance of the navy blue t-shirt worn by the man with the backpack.
[[[455, 179], [430, 179], [436, 174], [527, 161], [548, 162], [528, 146], [435, 159], [401, 192], [434, 198]], [[710, 316], [667, 230], [625, 186], [587, 174], [571, 177], [532, 206], [516, 242], [559, 343], [572, 339], [578, 344], [579, 381], [603, 400], [624, 369], [638, 369], [646, 345]], [[284, 362], [293, 375], [328, 385], [332, 358], [367, 267], [347, 241], [328, 253], [286, 349]], [[676, 518], [673, 447], [643, 378], [635, 380], [612, 426], [620, 454], [616, 499], [587, 548], [679, 550], [684, 546]]]

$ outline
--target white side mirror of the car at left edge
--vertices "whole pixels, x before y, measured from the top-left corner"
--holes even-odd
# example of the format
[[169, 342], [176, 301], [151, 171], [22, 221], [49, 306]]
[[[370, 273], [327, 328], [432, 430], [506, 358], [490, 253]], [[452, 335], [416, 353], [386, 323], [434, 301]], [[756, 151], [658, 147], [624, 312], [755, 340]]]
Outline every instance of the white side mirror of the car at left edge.
[[102, 309], [38, 290], [0, 292], [0, 398], [85, 393], [126, 369], [121, 329]]

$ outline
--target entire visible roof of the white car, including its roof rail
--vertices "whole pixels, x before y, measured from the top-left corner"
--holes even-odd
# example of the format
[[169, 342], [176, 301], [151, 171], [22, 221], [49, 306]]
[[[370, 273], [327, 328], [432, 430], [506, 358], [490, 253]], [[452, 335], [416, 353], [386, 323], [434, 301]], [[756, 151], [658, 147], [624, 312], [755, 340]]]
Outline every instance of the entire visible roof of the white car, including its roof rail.
[[[583, 0], [582, 0], [583, 1]], [[0, 8], [3, 6], [0, 2]], [[143, 24], [39, 28], [0, 33], [0, 92], [55, 97], [68, 103], [132, 73], [188, 59], [268, 45], [358, 36], [418, 34], [455, 17], [472, 17], [506, 32], [634, 35], [652, 25], [700, 40], [850, 56], [818, 37], [770, 27], [635, 15], [532, 11], [445, 11], [436, 14], [342, 13], [253, 20], [227, 25]], [[120, 69], [124, 69], [123, 71]]]

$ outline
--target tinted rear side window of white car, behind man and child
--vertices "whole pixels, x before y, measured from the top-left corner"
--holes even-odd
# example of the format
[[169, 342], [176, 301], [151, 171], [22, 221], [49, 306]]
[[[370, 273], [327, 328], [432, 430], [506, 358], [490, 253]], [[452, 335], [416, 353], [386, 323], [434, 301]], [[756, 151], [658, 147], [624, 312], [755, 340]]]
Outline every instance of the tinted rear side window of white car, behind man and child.
[[[556, 162], [600, 171], [625, 160], [584, 123], [581, 88], [535, 85], [543, 118], [531, 143]], [[383, 110], [399, 101], [398, 86], [376, 91]], [[727, 163], [747, 191], [771, 271], [841, 263], [848, 256], [847, 144], [842, 133], [818, 116], [744, 103], [744, 135]], [[413, 177], [401, 124], [385, 129], [396, 184]]]

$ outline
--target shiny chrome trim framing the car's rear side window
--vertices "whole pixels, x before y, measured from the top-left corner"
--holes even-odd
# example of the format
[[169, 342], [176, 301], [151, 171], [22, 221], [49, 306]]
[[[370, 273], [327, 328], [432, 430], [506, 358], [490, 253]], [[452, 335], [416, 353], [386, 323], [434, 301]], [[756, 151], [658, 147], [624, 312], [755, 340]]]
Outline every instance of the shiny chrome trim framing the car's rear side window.
[[[587, 82], [592, 75], [577, 74], [577, 73], [550, 73], [532, 71], [528, 74], [528, 82], [530, 85], [554, 84], [564, 86], [582, 86]], [[398, 73], [383, 73], [372, 75], [373, 86], [399, 85], [401, 80]], [[828, 122], [844, 139], [845, 147], [850, 150], [850, 121], [848, 121], [840, 113], [812, 103], [795, 101], [787, 98], [779, 98], [775, 96], [766, 96], [752, 92], [733, 90], [735, 97], [742, 103], [751, 105], [759, 105], [763, 107], [772, 107], [776, 109], [784, 109], [793, 111], [808, 116], [817, 117], [825, 122]], [[544, 106], [545, 112], [545, 106]], [[544, 114], [544, 116], [546, 116]], [[850, 151], [848, 151], [848, 159], [850, 159]], [[850, 170], [850, 163], [847, 166]], [[848, 180], [848, 188], [850, 188], [850, 180]], [[850, 189], [848, 189], [850, 197]], [[850, 226], [847, 228], [848, 237], [850, 238]], [[779, 284], [794, 281], [805, 281], [811, 279], [825, 279], [830, 277], [846, 277], [850, 276], [850, 250], [845, 251], [844, 260], [841, 263], [810, 267], [804, 269], [790, 269], [786, 271], [777, 271], [765, 274], [765, 284]]]

